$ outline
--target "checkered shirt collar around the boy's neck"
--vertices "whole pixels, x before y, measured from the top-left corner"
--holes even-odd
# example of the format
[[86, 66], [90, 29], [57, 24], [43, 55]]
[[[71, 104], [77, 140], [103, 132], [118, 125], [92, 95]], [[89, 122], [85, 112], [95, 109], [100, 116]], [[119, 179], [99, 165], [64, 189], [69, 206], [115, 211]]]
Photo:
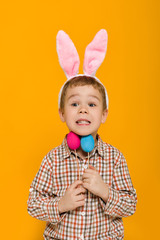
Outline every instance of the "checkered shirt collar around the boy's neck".
[[[98, 154], [103, 157], [104, 156], [104, 143], [101, 139], [101, 137], [97, 134], [97, 145], [95, 146], [95, 149], [93, 150], [93, 153], [92, 154], [95, 154], [96, 150], [98, 152]], [[71, 153], [73, 152], [69, 147], [68, 147], [68, 144], [67, 144], [67, 135], [65, 136], [65, 138], [63, 139], [63, 142], [62, 142], [62, 158], [65, 159], [65, 158], [68, 158], [70, 157]]]

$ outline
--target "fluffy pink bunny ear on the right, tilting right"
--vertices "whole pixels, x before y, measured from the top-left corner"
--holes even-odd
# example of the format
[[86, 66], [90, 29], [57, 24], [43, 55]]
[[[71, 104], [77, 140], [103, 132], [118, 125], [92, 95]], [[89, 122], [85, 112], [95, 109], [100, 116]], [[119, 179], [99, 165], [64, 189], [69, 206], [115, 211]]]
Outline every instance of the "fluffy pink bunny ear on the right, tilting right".
[[94, 76], [103, 62], [107, 51], [108, 34], [101, 29], [92, 42], [86, 47], [84, 55], [83, 71], [87, 75]]

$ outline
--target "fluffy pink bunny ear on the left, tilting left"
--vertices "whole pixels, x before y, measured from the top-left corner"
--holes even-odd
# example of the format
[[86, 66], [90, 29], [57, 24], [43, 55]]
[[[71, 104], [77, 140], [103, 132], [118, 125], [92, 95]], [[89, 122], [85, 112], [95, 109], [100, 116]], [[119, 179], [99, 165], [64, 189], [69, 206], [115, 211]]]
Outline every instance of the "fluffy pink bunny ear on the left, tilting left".
[[57, 34], [57, 53], [67, 78], [76, 76], [79, 72], [79, 55], [70, 37], [62, 30]]

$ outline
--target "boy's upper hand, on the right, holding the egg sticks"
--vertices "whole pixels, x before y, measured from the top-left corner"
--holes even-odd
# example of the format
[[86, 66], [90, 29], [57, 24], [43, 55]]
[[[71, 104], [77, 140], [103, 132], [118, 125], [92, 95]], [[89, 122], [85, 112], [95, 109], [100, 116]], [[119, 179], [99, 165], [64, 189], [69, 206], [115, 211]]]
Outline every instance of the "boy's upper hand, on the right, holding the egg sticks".
[[89, 169], [85, 170], [82, 180], [84, 188], [107, 202], [109, 194], [108, 186], [93, 166], [89, 165]]

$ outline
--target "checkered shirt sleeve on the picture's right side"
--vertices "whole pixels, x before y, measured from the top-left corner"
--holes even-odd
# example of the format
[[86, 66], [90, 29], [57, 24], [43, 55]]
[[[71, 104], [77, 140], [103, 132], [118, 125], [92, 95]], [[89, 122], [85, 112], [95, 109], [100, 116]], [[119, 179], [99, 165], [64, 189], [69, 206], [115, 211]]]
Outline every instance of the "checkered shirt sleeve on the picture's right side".
[[105, 214], [112, 217], [131, 216], [136, 211], [137, 194], [133, 187], [126, 160], [121, 152], [115, 157], [113, 182], [109, 187], [109, 197], [101, 205]]

